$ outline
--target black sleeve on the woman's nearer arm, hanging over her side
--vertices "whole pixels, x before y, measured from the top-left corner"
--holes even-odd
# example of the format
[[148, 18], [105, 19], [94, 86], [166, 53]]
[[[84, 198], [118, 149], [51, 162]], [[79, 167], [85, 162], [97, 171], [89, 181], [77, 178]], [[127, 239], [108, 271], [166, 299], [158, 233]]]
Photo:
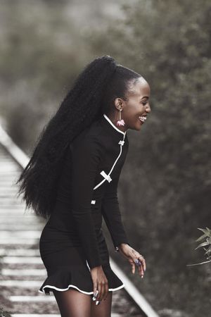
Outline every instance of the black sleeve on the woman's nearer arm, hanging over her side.
[[94, 136], [79, 139], [72, 149], [71, 209], [90, 268], [101, 265], [91, 215], [91, 197], [102, 155], [101, 144]]

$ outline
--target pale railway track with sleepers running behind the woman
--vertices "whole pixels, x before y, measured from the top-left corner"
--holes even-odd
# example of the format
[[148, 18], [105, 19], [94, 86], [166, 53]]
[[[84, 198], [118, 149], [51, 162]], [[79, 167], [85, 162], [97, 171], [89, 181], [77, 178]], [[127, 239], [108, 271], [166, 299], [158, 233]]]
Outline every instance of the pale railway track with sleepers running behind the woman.
[[[57, 317], [53, 294], [38, 292], [46, 278], [39, 255], [45, 221], [16, 196], [14, 183], [28, 160], [0, 125], [0, 308], [11, 317]], [[125, 285], [113, 292], [112, 317], [159, 317], [113, 259], [110, 265]]]

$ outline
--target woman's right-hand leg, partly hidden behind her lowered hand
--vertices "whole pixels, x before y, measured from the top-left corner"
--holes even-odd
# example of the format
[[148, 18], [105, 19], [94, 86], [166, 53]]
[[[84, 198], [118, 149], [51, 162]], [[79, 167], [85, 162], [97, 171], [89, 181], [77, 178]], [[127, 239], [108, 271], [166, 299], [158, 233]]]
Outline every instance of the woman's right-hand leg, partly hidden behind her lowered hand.
[[91, 303], [91, 317], [111, 316], [112, 294], [112, 291], [108, 292], [107, 298], [105, 300], [103, 299], [99, 305], [96, 305], [96, 302]]

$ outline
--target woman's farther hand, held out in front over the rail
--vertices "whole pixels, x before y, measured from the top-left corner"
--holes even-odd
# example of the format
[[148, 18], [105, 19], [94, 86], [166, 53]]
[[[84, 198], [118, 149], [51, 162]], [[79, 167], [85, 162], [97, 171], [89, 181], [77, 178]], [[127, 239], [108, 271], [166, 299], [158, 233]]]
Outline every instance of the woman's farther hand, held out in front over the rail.
[[143, 256], [127, 243], [120, 244], [119, 250], [132, 265], [132, 273], [135, 273], [137, 266], [139, 268], [139, 275], [143, 278], [144, 271], [146, 271], [146, 261]]

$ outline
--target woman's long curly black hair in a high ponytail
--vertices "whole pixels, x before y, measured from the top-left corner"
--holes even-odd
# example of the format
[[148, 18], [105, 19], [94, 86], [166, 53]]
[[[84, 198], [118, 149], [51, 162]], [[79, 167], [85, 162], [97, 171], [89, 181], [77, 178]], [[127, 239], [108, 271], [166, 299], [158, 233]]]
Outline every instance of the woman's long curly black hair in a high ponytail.
[[127, 99], [129, 81], [138, 77], [141, 75], [108, 55], [95, 58], [84, 68], [44, 126], [29, 163], [15, 182], [20, 186], [18, 197], [24, 193], [26, 208], [32, 207], [37, 216], [49, 218], [68, 145], [103, 113], [109, 114], [115, 98]]

